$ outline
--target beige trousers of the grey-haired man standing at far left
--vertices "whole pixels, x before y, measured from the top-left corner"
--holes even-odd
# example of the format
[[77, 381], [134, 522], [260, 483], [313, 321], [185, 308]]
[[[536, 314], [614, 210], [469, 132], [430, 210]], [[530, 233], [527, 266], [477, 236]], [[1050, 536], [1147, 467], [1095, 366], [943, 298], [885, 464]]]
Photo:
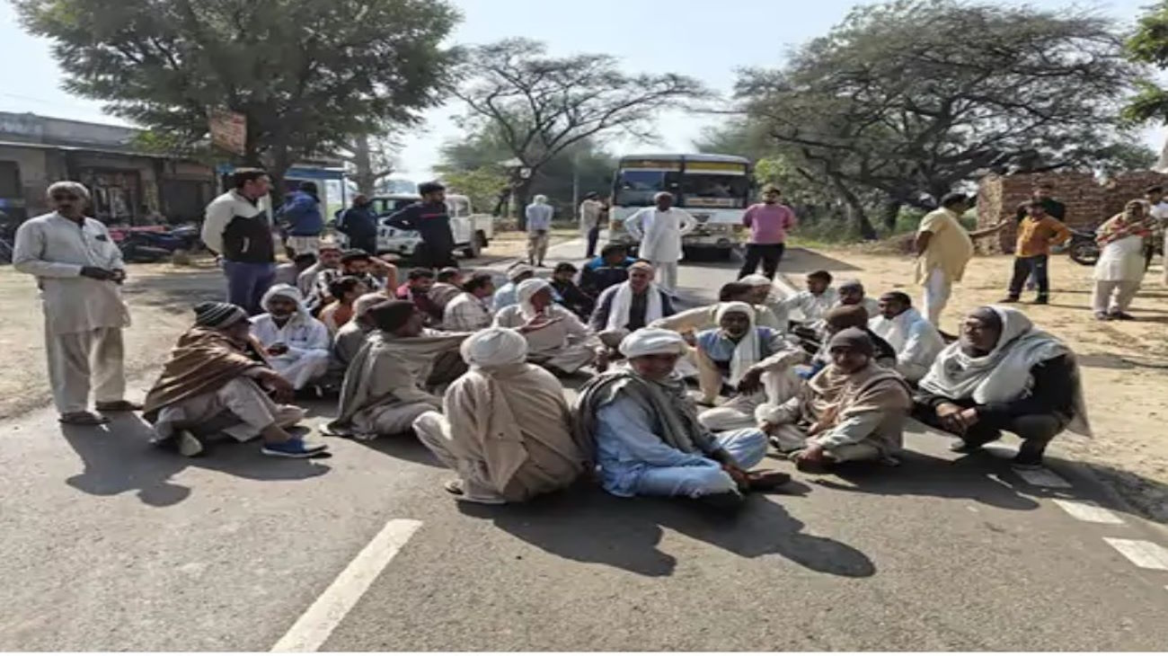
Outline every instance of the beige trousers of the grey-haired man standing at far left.
[[89, 406], [90, 383], [97, 403], [125, 397], [121, 328], [51, 333], [46, 322], [44, 350], [49, 360], [53, 403], [61, 414], [82, 412]]

